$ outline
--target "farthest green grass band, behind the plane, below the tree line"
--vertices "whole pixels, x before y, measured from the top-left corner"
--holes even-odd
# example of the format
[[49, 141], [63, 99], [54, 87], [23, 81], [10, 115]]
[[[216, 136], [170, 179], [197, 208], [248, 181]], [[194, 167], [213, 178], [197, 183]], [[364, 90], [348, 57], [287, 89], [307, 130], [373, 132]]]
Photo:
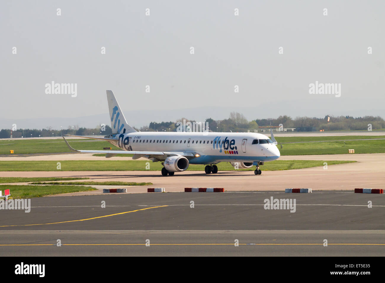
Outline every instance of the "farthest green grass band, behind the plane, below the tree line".
[[[280, 149], [281, 155], [284, 156], [308, 154], [348, 154], [348, 149], [354, 149], [355, 153], [384, 153], [384, 137], [385, 136], [276, 137], [276, 140], [278, 143], [283, 143], [283, 149], [280, 149], [280, 144], [278, 144], [278, 148]], [[376, 138], [382, 138], [382, 140], [368, 140]], [[363, 139], [363, 141], [353, 141], [353, 139]], [[89, 139], [70, 139], [69, 141], [70, 145], [75, 149], [103, 150], [103, 147], [111, 147], [112, 150], [119, 150], [119, 148], [112, 146], [112, 144], [105, 141]], [[63, 139], [29, 139], [14, 141], [5, 139], [0, 141], [0, 154], [10, 154], [10, 149], [13, 149], [15, 154], [70, 151]], [[94, 155], [105, 156], [105, 154]], [[129, 157], [132, 156], [132, 154], [117, 154], [117, 156]]]

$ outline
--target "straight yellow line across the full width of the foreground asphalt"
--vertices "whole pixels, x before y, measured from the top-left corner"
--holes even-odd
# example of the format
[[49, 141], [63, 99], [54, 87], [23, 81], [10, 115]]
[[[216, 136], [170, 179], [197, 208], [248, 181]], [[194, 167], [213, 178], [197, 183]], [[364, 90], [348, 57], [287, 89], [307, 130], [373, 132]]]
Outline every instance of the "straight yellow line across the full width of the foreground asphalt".
[[[0, 244], [0, 246], [56, 246], [57, 244]], [[62, 246], [146, 246], [146, 244], [61, 244]], [[233, 246], [234, 244], [150, 244], [150, 246]], [[250, 246], [290, 246], [290, 245], [323, 245], [323, 244], [239, 244]], [[328, 244], [328, 245], [349, 245], [349, 246], [385, 246], [385, 244]]]

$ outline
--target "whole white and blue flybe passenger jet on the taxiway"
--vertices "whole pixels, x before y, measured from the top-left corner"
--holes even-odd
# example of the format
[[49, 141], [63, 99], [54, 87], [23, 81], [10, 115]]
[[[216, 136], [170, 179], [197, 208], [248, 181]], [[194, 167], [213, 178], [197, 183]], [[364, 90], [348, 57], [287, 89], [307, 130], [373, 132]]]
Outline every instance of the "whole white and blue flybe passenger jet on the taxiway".
[[108, 141], [122, 150], [76, 150], [63, 136], [72, 151], [105, 153], [106, 158], [133, 154], [132, 159], [145, 157], [152, 162], [160, 161], [163, 176], [186, 171], [189, 164], [206, 165], [206, 174], [216, 174], [219, 162], [230, 162], [236, 169], [256, 166], [254, 174], [261, 175], [260, 165], [280, 157], [273, 130], [271, 139], [263, 134], [246, 132], [137, 132], [127, 123], [111, 90], [107, 90], [107, 100], [114, 134], [105, 137], [64, 136]]

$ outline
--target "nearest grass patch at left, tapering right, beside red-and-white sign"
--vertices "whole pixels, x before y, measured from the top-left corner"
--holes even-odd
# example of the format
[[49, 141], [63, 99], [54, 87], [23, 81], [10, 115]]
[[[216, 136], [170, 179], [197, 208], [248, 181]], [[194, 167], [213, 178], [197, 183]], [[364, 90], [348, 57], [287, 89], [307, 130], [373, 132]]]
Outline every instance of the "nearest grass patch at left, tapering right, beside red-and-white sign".
[[10, 189], [11, 198], [36, 198], [39, 196], [50, 196], [53, 194], [74, 193], [83, 191], [95, 191], [97, 189], [89, 186], [33, 186], [33, 185], [0, 185], [0, 191]]

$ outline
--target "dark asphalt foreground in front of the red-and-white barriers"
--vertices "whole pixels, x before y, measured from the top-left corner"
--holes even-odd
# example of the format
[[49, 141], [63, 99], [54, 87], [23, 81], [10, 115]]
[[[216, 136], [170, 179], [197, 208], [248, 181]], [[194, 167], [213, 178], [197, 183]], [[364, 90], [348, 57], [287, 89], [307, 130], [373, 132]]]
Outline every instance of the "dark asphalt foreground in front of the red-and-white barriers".
[[[271, 197], [295, 199], [295, 212], [264, 209]], [[384, 209], [384, 194], [346, 191], [34, 198], [30, 213], [1, 211], [0, 255], [383, 256]]]

